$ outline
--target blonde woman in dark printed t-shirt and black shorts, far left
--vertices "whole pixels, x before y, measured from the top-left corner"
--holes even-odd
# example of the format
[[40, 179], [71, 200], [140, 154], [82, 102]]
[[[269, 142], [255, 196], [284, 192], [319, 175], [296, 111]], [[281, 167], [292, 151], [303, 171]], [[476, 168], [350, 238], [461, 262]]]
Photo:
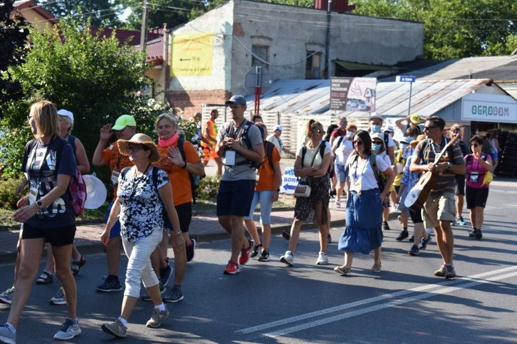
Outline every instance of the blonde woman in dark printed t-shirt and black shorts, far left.
[[35, 139], [26, 144], [21, 171], [29, 194], [18, 201], [14, 220], [23, 223], [20, 268], [7, 323], [0, 327], [0, 341], [16, 343], [16, 327], [37, 275], [45, 242], [52, 245], [56, 276], [61, 281], [68, 308], [67, 317], [54, 339], [68, 340], [81, 334], [77, 319], [77, 289], [70, 270], [75, 215], [66, 192], [77, 164], [72, 147], [59, 137], [59, 118], [54, 104], [37, 101], [30, 107], [30, 129]]

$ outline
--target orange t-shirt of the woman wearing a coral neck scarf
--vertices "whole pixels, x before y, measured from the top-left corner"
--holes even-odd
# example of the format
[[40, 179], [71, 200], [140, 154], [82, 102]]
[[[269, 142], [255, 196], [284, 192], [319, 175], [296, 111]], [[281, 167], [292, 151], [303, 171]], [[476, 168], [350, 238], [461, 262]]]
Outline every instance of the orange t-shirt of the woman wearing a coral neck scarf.
[[[178, 147], [178, 141], [169, 147], [172, 146]], [[180, 204], [192, 202], [192, 189], [190, 189], [190, 178], [188, 177], [187, 169], [182, 169], [180, 166], [172, 164], [172, 161], [169, 160], [167, 153], [169, 147], [161, 147], [158, 144], [160, 160], [154, 162], [154, 166], [163, 169], [169, 175], [174, 206], [179, 206]], [[199, 154], [192, 143], [186, 140], [183, 141], [183, 151], [185, 152], [185, 160], [188, 163], [196, 164], [196, 162], [201, 162], [201, 158], [199, 158]]]

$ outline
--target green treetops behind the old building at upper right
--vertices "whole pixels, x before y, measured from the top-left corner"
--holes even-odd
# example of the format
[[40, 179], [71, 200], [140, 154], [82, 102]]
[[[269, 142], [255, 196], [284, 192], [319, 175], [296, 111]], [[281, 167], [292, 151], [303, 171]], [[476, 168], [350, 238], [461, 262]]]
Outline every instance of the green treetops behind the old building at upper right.
[[509, 54], [517, 3], [500, 0], [357, 0], [355, 14], [424, 23], [425, 58]]

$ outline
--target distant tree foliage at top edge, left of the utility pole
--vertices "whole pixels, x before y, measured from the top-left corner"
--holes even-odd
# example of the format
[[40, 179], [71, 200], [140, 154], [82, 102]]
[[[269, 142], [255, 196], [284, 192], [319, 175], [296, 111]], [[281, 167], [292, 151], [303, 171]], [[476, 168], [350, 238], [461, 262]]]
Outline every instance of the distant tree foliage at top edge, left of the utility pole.
[[92, 25], [103, 23], [112, 27], [119, 24], [116, 8], [110, 0], [44, 0], [41, 6], [56, 18], [66, 16], [89, 17]]

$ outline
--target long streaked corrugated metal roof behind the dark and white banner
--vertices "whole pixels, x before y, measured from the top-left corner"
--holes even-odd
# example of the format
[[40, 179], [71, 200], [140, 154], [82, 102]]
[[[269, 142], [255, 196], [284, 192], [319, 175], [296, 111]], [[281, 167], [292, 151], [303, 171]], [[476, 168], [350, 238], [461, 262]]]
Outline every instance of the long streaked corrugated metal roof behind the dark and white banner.
[[[412, 85], [411, 111], [431, 116], [461, 99], [489, 79], [418, 80]], [[498, 87], [492, 84], [492, 87]], [[499, 88], [499, 87], [498, 87]], [[406, 116], [409, 83], [378, 83], [376, 112]], [[254, 108], [254, 96], [248, 96], [248, 109]], [[365, 111], [330, 111], [330, 80], [276, 81], [261, 96], [261, 111], [298, 114], [334, 113], [338, 116], [361, 116]]]

